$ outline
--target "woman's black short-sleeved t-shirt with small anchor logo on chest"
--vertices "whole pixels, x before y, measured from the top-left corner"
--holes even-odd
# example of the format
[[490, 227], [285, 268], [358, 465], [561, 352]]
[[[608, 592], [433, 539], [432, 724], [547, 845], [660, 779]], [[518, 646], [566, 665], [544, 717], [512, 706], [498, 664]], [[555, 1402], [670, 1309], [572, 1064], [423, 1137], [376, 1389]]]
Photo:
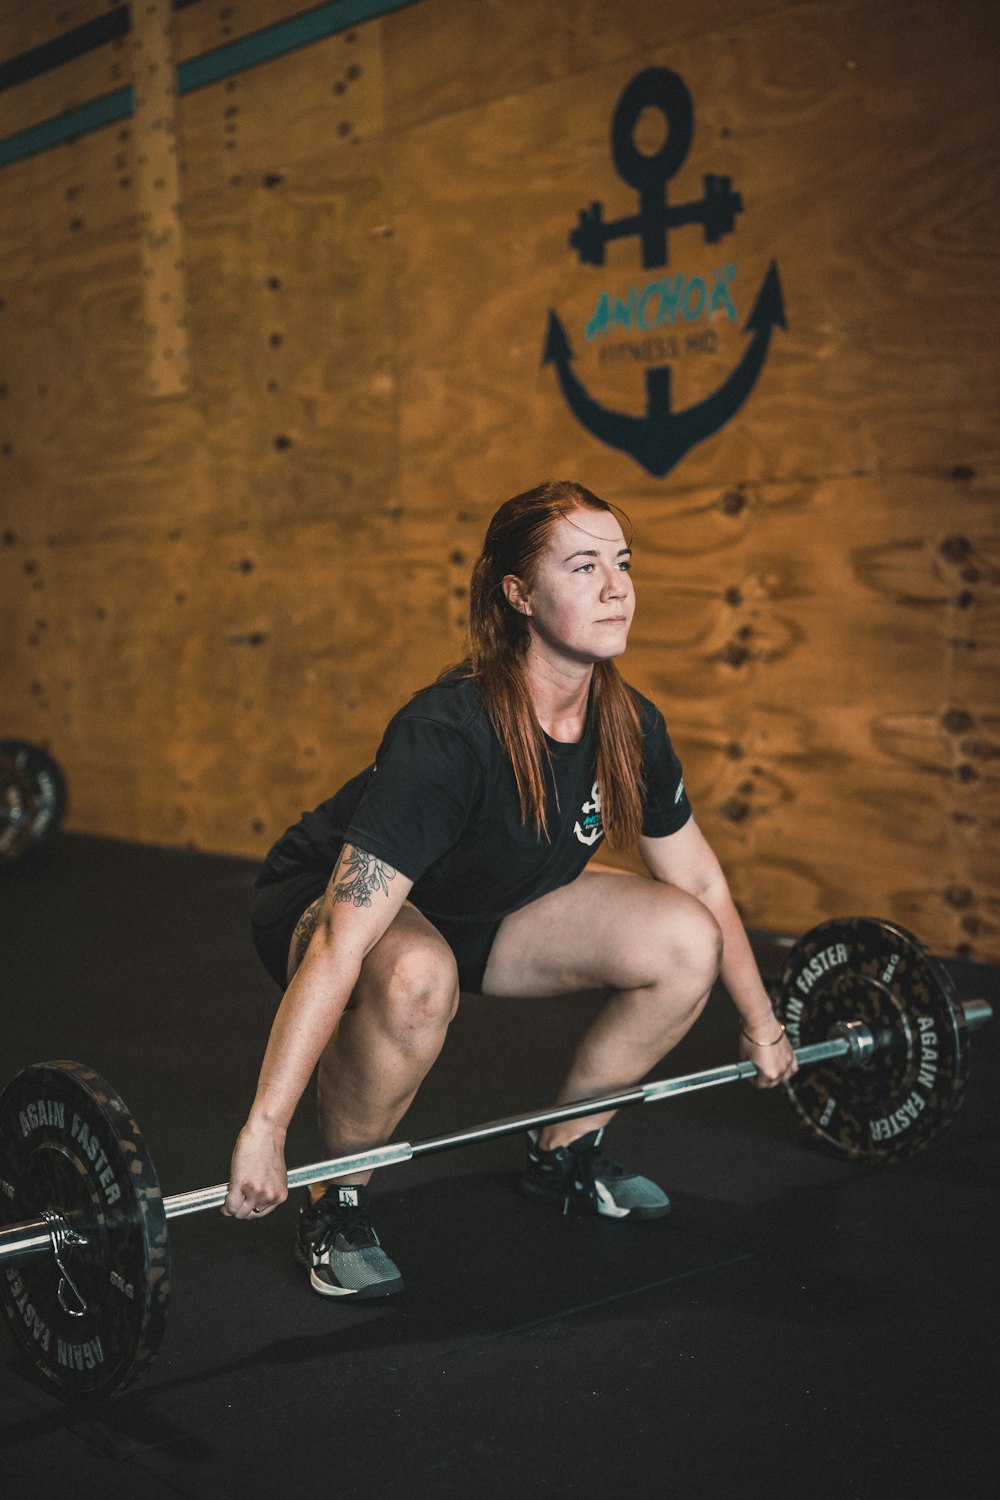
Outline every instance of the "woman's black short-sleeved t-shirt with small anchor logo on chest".
[[[691, 806], [663, 714], [633, 693], [645, 747], [643, 834], [661, 837], [684, 826]], [[604, 837], [591, 716], [577, 744], [546, 741], [549, 838], [522, 824], [514, 772], [478, 681], [444, 678], [400, 708], [373, 765], [279, 838], [258, 884], [328, 874], [351, 843], [408, 876], [409, 900], [432, 920], [505, 916], [574, 880]]]

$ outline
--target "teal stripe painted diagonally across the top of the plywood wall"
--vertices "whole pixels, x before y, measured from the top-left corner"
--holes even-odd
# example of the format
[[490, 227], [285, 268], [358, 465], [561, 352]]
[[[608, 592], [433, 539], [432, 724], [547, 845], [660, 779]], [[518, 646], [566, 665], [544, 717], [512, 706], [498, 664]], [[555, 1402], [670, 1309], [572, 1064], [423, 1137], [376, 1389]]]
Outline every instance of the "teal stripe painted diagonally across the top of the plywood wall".
[[[204, 88], [207, 84], [241, 74], [247, 68], [270, 63], [274, 57], [283, 57], [300, 46], [336, 36], [337, 32], [346, 32], [349, 26], [361, 26], [364, 21], [373, 21], [390, 10], [402, 10], [417, 3], [418, 0], [330, 0], [328, 4], [303, 10], [301, 15], [289, 16], [288, 21], [277, 21], [262, 32], [255, 32], [238, 42], [229, 42], [181, 63], [177, 69], [177, 92], [192, 93], [195, 88]], [[78, 110], [55, 116], [54, 120], [45, 120], [28, 130], [7, 135], [6, 140], [0, 141], [0, 166], [24, 160], [25, 156], [34, 156], [37, 152], [48, 152], [54, 146], [87, 135], [90, 130], [99, 130], [115, 120], [124, 120], [132, 114], [132, 88], [118, 88], [115, 93], [93, 99]]]

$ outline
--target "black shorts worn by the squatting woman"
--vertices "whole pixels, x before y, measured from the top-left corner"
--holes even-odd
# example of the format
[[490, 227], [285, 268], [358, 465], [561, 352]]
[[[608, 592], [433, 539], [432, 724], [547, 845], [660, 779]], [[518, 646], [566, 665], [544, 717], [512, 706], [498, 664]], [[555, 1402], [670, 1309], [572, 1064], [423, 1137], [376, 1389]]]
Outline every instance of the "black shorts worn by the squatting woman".
[[[288, 950], [295, 922], [306, 908], [322, 896], [328, 880], [328, 874], [324, 874], [322, 870], [304, 870], [301, 874], [289, 874], [285, 880], [253, 888], [250, 908], [253, 946], [261, 963], [282, 990], [288, 982]], [[454, 962], [459, 966], [459, 986], [478, 994], [502, 916], [459, 922], [447, 916], [430, 916], [427, 912], [423, 915], [438, 928], [454, 954]]]

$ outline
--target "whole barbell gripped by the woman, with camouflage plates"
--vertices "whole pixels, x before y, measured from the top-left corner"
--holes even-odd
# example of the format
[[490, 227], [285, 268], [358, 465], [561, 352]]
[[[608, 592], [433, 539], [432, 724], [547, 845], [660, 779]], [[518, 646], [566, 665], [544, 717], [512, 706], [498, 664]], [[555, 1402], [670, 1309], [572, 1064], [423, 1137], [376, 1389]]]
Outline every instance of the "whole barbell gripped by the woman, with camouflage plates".
[[[961, 1106], [969, 1032], [961, 1004], [903, 927], [823, 922], [786, 956], [775, 1011], [801, 1071], [787, 1092], [808, 1140], [852, 1161], [892, 1162], [942, 1134]], [[621, 1089], [421, 1142], [312, 1162], [289, 1188], [381, 1168], [556, 1120], [750, 1078], [751, 1062]], [[138, 1124], [79, 1062], [22, 1070], [0, 1094], [0, 1300], [30, 1372], [69, 1398], [108, 1398], [154, 1358], [171, 1293], [166, 1221], [219, 1208], [226, 1185], [163, 1198]]]

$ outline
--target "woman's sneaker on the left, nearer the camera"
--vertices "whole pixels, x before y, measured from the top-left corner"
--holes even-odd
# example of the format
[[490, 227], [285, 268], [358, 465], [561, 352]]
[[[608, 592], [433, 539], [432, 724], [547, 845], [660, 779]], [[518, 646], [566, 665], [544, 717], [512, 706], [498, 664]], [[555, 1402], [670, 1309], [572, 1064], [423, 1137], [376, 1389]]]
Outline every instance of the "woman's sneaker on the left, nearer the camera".
[[298, 1214], [295, 1260], [309, 1270], [324, 1298], [387, 1298], [403, 1290], [403, 1278], [369, 1224], [369, 1192], [333, 1186]]

